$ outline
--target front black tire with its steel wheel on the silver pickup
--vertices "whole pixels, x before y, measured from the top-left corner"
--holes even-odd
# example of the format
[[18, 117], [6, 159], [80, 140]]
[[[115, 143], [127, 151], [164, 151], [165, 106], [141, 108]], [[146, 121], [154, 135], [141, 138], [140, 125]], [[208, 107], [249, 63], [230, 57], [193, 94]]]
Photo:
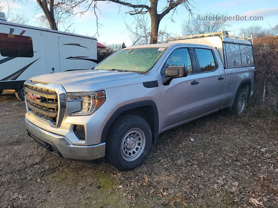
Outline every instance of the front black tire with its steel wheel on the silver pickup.
[[[136, 135], [139, 134], [128, 134], [133, 129], [138, 129], [143, 132], [142, 139]], [[130, 142], [130, 138], [132, 139], [134, 135], [135, 142], [129, 144], [135, 144], [133, 147], [128, 147], [128, 142]], [[145, 141], [143, 141], [143, 137], [145, 136]], [[127, 138], [127, 139], [126, 139]], [[133, 138], [133, 139], [134, 139]], [[126, 142], [128, 141], [128, 142]], [[140, 143], [140, 141], [142, 143]], [[125, 143], [126, 142], [126, 143]], [[141, 148], [138, 148], [136, 145], [141, 145]], [[143, 146], [144, 144], [144, 146]], [[106, 147], [105, 147], [105, 160], [110, 165], [114, 166], [119, 171], [129, 171], [135, 169], [136, 167], [140, 166], [145, 159], [147, 158], [150, 149], [152, 146], [152, 132], [150, 125], [147, 121], [145, 121], [142, 117], [134, 116], [134, 115], [124, 115], [118, 117], [113, 124], [111, 125], [108, 136], [106, 138]], [[127, 157], [133, 157], [132, 155], [128, 156], [126, 153], [128, 149], [125, 148], [134, 148], [136, 151], [140, 151], [140, 154], [136, 152], [134, 155], [134, 160], [128, 161]], [[138, 148], [138, 150], [137, 150]], [[135, 150], [134, 149], [134, 150]], [[128, 150], [129, 152], [132, 151]], [[125, 155], [126, 154], [126, 155]], [[136, 158], [137, 157], [137, 158]], [[126, 158], [126, 159], [125, 159]]]

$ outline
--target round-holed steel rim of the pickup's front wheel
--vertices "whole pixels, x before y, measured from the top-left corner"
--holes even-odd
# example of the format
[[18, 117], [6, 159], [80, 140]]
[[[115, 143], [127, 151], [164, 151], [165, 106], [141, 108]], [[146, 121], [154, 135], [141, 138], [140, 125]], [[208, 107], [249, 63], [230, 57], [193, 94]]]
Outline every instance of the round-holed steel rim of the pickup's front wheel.
[[144, 151], [146, 137], [142, 129], [130, 129], [122, 139], [121, 154], [126, 161], [134, 161]]

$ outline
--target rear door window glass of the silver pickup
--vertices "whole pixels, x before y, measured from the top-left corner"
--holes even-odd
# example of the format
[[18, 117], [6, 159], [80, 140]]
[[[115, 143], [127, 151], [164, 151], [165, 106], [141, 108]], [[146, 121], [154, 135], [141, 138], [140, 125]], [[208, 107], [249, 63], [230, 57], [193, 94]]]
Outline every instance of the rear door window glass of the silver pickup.
[[201, 72], [213, 71], [216, 69], [215, 60], [210, 49], [195, 48], [199, 60]]

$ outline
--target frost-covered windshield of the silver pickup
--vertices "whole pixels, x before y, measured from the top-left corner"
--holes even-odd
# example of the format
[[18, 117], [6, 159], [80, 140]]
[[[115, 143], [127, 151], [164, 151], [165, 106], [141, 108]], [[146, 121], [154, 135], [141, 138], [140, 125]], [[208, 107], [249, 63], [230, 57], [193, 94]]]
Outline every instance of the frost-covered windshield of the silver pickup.
[[166, 49], [138, 48], [117, 51], [96, 65], [94, 69], [125, 70], [143, 74], [155, 65]]

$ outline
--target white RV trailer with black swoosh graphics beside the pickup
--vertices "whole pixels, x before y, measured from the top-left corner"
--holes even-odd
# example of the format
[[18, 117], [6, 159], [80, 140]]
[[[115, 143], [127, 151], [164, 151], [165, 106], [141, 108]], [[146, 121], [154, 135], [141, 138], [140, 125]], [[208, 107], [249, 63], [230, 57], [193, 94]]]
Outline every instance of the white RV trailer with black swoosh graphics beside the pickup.
[[0, 94], [14, 90], [23, 100], [26, 79], [48, 73], [91, 69], [96, 38], [0, 20]]

